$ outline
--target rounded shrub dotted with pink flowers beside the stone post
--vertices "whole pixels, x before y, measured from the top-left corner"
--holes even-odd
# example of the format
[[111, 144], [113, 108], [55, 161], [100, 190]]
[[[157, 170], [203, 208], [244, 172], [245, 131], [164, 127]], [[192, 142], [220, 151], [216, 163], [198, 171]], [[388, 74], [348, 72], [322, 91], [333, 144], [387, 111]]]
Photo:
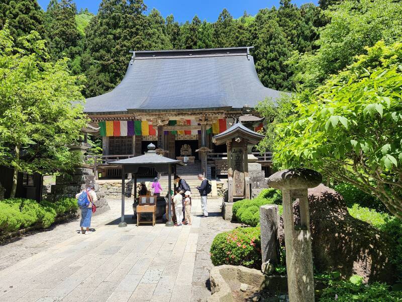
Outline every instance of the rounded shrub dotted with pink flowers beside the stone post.
[[261, 268], [260, 228], [237, 228], [218, 234], [212, 242], [210, 255], [214, 265], [243, 265]]

